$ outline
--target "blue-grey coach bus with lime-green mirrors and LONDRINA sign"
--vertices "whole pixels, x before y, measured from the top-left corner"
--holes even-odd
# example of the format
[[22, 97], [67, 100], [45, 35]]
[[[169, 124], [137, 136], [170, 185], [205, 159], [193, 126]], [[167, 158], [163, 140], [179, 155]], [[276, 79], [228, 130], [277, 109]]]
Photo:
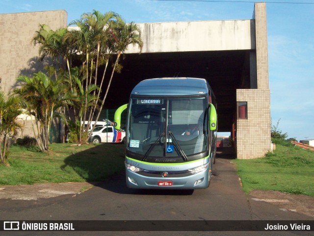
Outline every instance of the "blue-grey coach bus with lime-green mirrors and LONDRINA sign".
[[199, 78], [156, 78], [137, 84], [127, 109], [126, 182], [139, 189], [208, 188], [216, 154], [216, 99]]

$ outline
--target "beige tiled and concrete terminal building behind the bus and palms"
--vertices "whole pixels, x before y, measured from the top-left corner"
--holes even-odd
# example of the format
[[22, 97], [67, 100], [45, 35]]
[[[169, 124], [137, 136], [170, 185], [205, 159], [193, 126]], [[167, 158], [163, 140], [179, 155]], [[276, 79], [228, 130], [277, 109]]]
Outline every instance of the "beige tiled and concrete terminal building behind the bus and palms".
[[[262, 157], [271, 150], [264, 2], [255, 4], [253, 16], [249, 20], [139, 24], [143, 51], [139, 55], [138, 48], [130, 47], [125, 53], [124, 68], [114, 77], [105, 107], [127, 103], [131, 89], [144, 79], [205, 78], [217, 98], [218, 131], [231, 132], [237, 158]], [[19, 75], [31, 76], [42, 69], [35, 60], [38, 48], [30, 44], [39, 24], [66, 27], [67, 13], [0, 14], [0, 22], [0, 86], [7, 92], [17, 86]]]

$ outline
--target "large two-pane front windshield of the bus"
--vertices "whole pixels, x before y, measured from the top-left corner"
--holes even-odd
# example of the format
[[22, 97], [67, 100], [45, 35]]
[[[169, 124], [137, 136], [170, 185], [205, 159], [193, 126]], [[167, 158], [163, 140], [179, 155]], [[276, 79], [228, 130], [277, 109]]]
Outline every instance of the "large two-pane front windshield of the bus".
[[129, 151], [140, 156], [183, 157], [207, 150], [206, 96], [132, 97]]

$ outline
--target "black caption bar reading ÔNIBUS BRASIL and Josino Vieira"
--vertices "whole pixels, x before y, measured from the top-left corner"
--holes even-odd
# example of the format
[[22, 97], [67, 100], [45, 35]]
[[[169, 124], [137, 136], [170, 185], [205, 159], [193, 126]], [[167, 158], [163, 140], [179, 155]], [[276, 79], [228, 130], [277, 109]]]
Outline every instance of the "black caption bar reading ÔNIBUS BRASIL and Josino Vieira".
[[1, 220], [0, 231], [314, 231], [314, 220]]

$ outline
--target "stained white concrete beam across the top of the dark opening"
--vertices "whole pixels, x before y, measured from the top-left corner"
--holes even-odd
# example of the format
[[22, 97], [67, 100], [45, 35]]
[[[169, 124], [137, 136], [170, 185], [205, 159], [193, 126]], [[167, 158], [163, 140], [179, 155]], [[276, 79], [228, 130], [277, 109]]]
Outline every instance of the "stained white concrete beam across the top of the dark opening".
[[[256, 48], [254, 20], [162, 22], [137, 24], [142, 53], [252, 50]], [[129, 46], [127, 54], [139, 53]]]

